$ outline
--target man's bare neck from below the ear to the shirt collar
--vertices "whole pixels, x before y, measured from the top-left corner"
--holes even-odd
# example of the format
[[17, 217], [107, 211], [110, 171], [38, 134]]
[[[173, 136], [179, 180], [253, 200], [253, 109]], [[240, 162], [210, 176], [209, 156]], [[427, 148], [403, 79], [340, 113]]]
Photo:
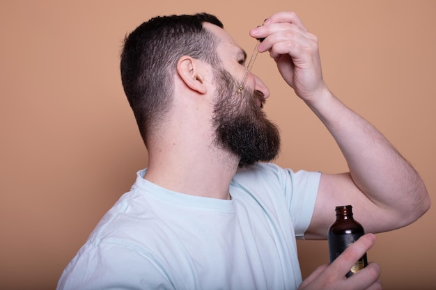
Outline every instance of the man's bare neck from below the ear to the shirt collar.
[[171, 111], [166, 113], [159, 132], [147, 137], [148, 170], [144, 178], [171, 191], [225, 200], [230, 198], [229, 186], [239, 157], [215, 145], [211, 117], [215, 90], [205, 79], [198, 79], [203, 80], [204, 91], [175, 78]]

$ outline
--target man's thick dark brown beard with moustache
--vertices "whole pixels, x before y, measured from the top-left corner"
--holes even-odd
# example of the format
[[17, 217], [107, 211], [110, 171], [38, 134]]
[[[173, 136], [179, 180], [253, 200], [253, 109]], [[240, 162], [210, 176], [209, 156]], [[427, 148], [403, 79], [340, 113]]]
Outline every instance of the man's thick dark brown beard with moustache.
[[240, 157], [239, 167], [272, 161], [279, 154], [280, 134], [262, 110], [263, 94], [245, 88], [236, 92], [236, 82], [224, 69], [215, 72], [215, 80], [218, 91], [213, 124], [217, 144]]

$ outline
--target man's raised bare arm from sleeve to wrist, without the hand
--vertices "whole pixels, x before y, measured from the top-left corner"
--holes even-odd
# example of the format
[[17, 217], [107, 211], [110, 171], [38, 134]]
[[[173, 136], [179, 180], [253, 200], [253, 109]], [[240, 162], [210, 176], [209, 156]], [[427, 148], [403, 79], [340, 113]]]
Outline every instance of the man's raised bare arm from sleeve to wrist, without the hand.
[[[334, 207], [352, 204], [367, 232], [385, 232], [419, 218], [430, 200], [421, 177], [371, 124], [331, 93], [309, 104], [330, 131], [350, 172], [323, 174], [307, 238], [325, 239]], [[330, 218], [331, 220], [331, 218]]]

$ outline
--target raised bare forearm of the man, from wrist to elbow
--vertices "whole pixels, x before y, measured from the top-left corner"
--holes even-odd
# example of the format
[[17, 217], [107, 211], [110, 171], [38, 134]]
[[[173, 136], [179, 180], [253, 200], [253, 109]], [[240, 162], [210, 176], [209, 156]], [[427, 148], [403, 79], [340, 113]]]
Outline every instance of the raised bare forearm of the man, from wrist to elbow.
[[325, 124], [348, 163], [359, 190], [377, 207], [398, 215], [403, 226], [430, 206], [419, 174], [375, 127], [324, 90], [306, 101]]

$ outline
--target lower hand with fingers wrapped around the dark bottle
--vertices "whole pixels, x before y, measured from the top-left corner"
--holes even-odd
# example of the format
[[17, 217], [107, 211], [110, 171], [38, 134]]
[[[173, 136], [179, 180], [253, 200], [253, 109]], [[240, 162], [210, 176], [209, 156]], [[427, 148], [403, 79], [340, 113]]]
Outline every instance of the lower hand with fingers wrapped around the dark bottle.
[[379, 290], [382, 284], [380, 266], [369, 263], [366, 268], [347, 278], [345, 275], [350, 268], [368, 251], [375, 243], [373, 234], [361, 236], [350, 245], [332, 264], [325, 264], [316, 269], [299, 286], [298, 290]]

